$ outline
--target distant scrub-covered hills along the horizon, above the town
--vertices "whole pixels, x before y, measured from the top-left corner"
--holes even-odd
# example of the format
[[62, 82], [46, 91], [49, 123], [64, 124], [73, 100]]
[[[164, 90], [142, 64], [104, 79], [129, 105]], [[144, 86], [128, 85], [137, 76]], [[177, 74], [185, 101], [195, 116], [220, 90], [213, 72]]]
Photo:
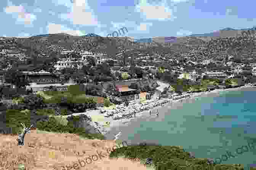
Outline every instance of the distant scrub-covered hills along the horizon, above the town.
[[[253, 30], [248, 28], [247, 30]], [[193, 61], [205, 59], [219, 60], [227, 56], [242, 57], [242, 59], [254, 58], [254, 37], [240, 37], [243, 30], [224, 28], [219, 36], [186, 36], [179, 37], [173, 43], [127, 43], [131, 39], [126, 37], [106, 38], [93, 33], [85, 36], [72, 36], [64, 33], [37, 35], [30, 38], [13, 38], [14, 42], [5, 43], [2, 48], [15, 48], [24, 52], [27, 56], [32, 54], [43, 57], [45, 54], [60, 52], [61, 50], [91, 50], [102, 52], [109, 58], [121, 59], [123, 55], [130, 57], [135, 54], [160, 55], [174, 58], [188, 58]], [[211, 33], [210, 33], [211, 34]], [[93, 35], [93, 36], [90, 36]], [[240, 38], [239, 38], [240, 37]], [[7, 41], [3, 38], [2, 41]], [[10, 38], [8, 38], [8, 41]], [[1, 40], [0, 40], [1, 41]], [[141, 44], [144, 47], [141, 48]]]

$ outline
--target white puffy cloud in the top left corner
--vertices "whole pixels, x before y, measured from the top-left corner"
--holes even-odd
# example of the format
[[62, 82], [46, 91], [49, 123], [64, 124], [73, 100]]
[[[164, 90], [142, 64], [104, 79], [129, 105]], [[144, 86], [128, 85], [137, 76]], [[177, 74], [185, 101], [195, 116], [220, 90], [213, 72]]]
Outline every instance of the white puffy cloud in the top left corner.
[[13, 14], [13, 16], [17, 18], [18, 22], [22, 22], [27, 25], [32, 24], [32, 22], [37, 19], [34, 14], [26, 13], [24, 6], [13, 6], [11, 1], [8, 1], [8, 6], [5, 7], [4, 11], [7, 14]]

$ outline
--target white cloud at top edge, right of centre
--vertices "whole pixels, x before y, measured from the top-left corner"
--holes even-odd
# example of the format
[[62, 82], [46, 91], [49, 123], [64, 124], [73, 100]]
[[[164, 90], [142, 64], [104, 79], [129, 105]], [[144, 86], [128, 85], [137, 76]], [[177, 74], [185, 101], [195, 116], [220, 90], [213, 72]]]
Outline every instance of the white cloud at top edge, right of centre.
[[159, 4], [150, 4], [147, 3], [147, 0], [141, 0], [135, 8], [137, 12], [146, 16], [146, 19], [166, 20], [176, 18], [173, 16], [173, 10], [168, 7], [166, 0]]

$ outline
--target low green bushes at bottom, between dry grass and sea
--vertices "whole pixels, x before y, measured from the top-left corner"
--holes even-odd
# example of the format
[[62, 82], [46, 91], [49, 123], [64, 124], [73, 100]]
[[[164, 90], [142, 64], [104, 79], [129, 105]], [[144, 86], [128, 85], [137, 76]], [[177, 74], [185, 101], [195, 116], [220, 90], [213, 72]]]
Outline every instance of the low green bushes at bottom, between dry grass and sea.
[[178, 146], [123, 146], [115, 149], [109, 155], [110, 158], [117, 158], [122, 156], [125, 156], [125, 158], [131, 160], [140, 159], [141, 163], [145, 165], [146, 159], [152, 158], [152, 167], [157, 170], [206, 169], [202, 167], [208, 167], [208, 169], [212, 167], [211, 169], [215, 168], [219, 170], [227, 169], [227, 167], [237, 167], [234, 169], [242, 170], [242, 167], [238, 167], [238, 165], [208, 165], [207, 159], [192, 158], [188, 152], [184, 151]]

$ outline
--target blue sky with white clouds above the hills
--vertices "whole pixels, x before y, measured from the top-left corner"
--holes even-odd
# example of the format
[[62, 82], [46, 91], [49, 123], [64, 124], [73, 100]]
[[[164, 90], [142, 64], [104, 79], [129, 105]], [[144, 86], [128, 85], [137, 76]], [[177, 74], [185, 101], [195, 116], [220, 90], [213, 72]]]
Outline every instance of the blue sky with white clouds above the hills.
[[[0, 36], [95, 33], [152, 38], [256, 25], [255, 0], [1, 0]], [[116, 36], [116, 33], [114, 34]]]

